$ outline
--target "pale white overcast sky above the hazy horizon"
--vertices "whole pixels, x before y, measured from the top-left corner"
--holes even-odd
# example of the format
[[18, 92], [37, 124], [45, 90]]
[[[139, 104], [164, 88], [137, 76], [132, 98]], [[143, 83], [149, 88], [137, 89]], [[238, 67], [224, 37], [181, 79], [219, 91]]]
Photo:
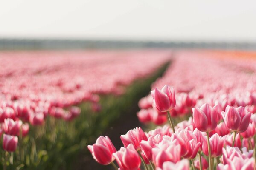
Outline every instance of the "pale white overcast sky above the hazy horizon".
[[0, 37], [256, 41], [251, 0], [0, 0]]

